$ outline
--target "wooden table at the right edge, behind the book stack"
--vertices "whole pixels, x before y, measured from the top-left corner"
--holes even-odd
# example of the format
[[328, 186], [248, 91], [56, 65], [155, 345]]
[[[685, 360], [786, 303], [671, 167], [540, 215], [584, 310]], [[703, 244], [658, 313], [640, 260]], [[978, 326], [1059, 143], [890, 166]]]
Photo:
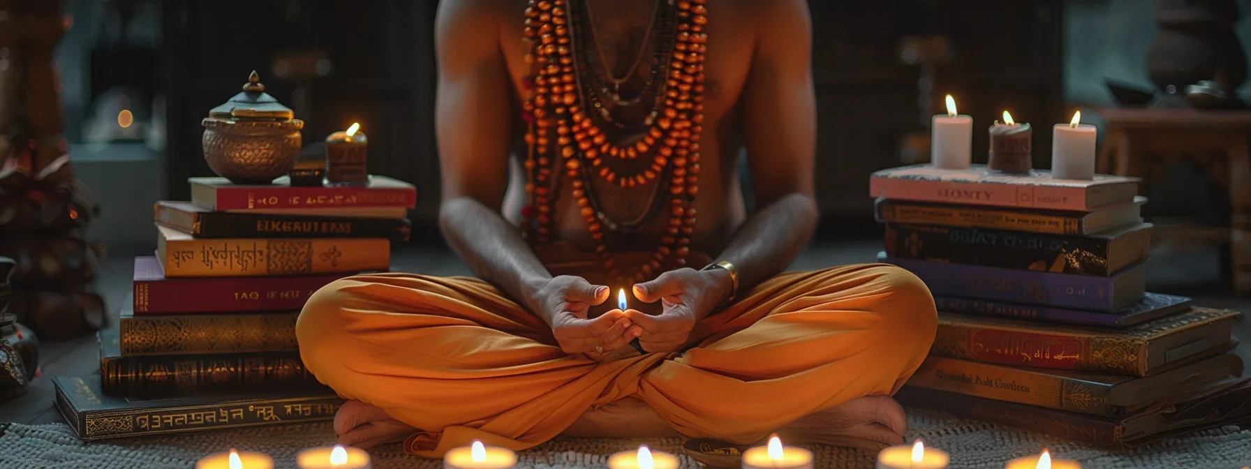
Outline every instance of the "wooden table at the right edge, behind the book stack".
[[1160, 180], [1173, 161], [1198, 163], [1230, 196], [1230, 271], [1251, 296], [1251, 111], [1097, 109], [1107, 120], [1097, 170]]

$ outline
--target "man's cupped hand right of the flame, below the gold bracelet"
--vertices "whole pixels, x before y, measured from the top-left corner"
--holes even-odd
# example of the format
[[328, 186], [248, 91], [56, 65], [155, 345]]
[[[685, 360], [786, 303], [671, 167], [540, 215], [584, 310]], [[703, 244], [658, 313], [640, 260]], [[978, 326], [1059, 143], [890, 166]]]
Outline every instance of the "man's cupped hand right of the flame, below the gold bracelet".
[[634, 285], [634, 296], [644, 303], [661, 301], [658, 316], [628, 310], [626, 316], [642, 330], [638, 341], [647, 351], [678, 351], [691, 338], [696, 323], [729, 296], [733, 280], [723, 269], [678, 269], [656, 280]]

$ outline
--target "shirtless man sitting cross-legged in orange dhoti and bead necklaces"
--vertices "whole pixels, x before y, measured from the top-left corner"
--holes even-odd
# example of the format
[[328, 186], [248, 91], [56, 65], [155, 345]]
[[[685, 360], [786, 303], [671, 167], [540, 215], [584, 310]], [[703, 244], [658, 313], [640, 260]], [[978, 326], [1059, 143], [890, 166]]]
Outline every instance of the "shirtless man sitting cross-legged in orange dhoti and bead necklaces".
[[817, 218], [803, 0], [445, 0], [435, 36], [439, 220], [478, 279], [309, 299], [342, 443], [902, 441], [929, 291], [881, 264], [782, 273]]

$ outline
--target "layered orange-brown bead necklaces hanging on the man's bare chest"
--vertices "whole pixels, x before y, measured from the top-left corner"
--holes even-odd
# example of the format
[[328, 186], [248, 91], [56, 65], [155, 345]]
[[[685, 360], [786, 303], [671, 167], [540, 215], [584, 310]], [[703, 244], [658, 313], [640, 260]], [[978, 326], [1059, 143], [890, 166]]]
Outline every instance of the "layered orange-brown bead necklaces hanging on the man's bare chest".
[[[691, 234], [696, 223], [696, 209], [692, 205], [699, 193], [703, 60], [708, 43], [704, 33], [708, 23], [706, 0], [677, 0], [677, 9], [673, 11], [677, 33], [657, 38], [659, 44], [667, 44], [666, 39], [672, 40], [673, 50], [658, 55], [653, 64], [658, 66], [659, 76], [663, 76], [663, 83], [656, 91], [657, 101], [661, 101], [659, 96], [663, 96], [663, 101], [658, 109], [653, 109], [654, 118], [644, 120], [641, 126], [646, 129], [642, 138], [626, 145], [609, 141], [604, 129], [595, 123], [595, 114], [599, 120], [614, 123], [610, 113], [592, 114], [587, 108], [603, 109], [603, 103], [594, 96], [597, 90], [588, 83], [585, 73], [579, 70], [575, 59], [579, 45], [573, 40], [573, 29], [577, 26], [570, 10], [577, 6], [572, 3], [578, 1], [582, 0], [530, 0], [525, 9], [525, 40], [529, 46], [525, 60], [532, 66], [532, 78], [527, 78], [524, 85], [533, 93], [523, 108], [528, 146], [528, 205], [522, 211], [525, 216], [523, 235], [534, 246], [550, 240], [555, 190], [559, 188], [559, 174], [553, 178], [553, 173], [563, 168], [570, 179], [572, 195], [587, 221], [590, 239], [597, 244], [595, 253], [604, 268], [615, 273], [612, 253], [603, 241], [603, 230], [605, 224], [614, 230], [622, 226], [599, 210], [598, 200], [592, 194], [592, 180], [598, 175], [622, 188], [643, 188], [659, 178], [653, 190], [659, 193], [667, 189], [671, 206], [661, 245], [639, 271], [613, 275], [629, 281], [643, 281], [659, 274], [662, 266], [686, 265], [686, 256], [691, 250]], [[662, 13], [657, 11], [657, 16], [662, 16]], [[590, 34], [589, 28], [585, 29], [577, 33]], [[662, 28], [662, 33], [664, 30]], [[615, 94], [609, 94], [609, 99], [622, 101]], [[633, 174], [614, 170], [607, 160], [648, 155], [652, 156], [652, 164]], [[653, 194], [652, 201], [657, 203], [657, 199]], [[646, 214], [641, 219], [644, 218]], [[624, 225], [639, 224], [636, 220]]]

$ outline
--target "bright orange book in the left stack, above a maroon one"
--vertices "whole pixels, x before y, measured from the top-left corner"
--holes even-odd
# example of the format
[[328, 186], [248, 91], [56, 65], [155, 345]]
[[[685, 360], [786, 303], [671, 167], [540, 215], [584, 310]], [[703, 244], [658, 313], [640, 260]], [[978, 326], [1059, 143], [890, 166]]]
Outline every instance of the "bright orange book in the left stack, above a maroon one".
[[195, 239], [156, 226], [166, 278], [350, 274], [390, 268], [385, 238]]

